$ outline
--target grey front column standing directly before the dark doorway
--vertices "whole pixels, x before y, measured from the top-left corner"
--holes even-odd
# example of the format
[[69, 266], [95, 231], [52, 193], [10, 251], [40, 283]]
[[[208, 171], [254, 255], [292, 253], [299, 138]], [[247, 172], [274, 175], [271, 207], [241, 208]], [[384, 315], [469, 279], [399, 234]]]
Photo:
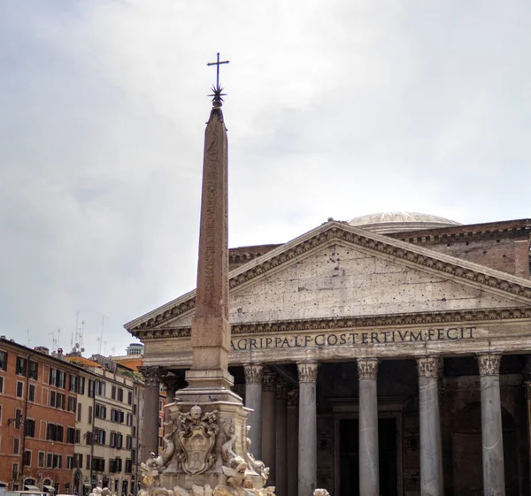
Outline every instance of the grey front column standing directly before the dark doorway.
[[358, 358], [360, 496], [380, 496], [377, 373], [376, 358]]

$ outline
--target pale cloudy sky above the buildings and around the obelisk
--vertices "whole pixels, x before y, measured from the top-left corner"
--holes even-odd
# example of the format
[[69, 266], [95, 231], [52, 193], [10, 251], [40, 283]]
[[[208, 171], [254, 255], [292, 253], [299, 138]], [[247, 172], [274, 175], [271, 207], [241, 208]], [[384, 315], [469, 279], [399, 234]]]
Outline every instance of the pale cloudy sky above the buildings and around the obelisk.
[[83, 322], [123, 355], [195, 286], [218, 51], [231, 247], [531, 217], [530, 24], [527, 0], [4, 0], [0, 334], [68, 350]]

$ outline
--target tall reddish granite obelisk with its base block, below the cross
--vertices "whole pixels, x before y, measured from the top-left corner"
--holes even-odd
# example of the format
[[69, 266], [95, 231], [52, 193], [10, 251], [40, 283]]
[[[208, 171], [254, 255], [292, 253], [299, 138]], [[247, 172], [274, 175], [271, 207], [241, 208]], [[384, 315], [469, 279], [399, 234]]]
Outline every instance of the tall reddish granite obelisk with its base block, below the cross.
[[227, 128], [221, 105], [218, 86], [204, 132], [196, 314], [187, 380], [192, 387], [227, 389], [233, 378], [228, 373]]

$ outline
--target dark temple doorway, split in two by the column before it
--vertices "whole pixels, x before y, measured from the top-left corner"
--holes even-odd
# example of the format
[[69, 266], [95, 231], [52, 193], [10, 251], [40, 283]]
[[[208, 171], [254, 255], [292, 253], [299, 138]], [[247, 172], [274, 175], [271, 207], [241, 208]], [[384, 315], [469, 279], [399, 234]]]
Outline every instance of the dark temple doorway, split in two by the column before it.
[[[339, 463], [341, 496], [359, 495], [358, 419], [343, 419], [339, 423]], [[397, 450], [396, 419], [378, 419], [378, 449], [380, 458], [380, 494], [396, 496]]]

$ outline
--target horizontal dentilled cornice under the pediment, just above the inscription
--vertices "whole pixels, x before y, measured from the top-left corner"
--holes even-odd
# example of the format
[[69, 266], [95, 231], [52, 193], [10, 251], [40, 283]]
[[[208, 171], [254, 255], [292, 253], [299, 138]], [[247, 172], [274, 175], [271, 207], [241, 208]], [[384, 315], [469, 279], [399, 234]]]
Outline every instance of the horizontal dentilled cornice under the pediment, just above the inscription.
[[[518, 319], [531, 319], [531, 308], [454, 310], [365, 317], [254, 322], [250, 324], [232, 324], [231, 334], [235, 336], [238, 334], [273, 334], [275, 332], [286, 333], [314, 330], [335, 331], [362, 327], [386, 327], [389, 325], [461, 324]], [[189, 338], [190, 332], [191, 327], [165, 327], [136, 331], [135, 336], [141, 340]]]

